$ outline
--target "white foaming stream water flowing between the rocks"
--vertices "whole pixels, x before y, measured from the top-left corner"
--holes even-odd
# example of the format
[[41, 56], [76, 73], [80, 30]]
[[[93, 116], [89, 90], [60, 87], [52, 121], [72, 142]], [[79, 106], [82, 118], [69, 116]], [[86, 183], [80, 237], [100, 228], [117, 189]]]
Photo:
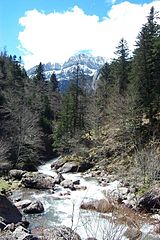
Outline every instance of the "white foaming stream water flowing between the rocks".
[[[52, 160], [39, 167], [39, 172], [55, 176], [51, 169]], [[101, 214], [86, 210], [80, 210], [83, 201], [104, 198], [104, 188], [99, 186], [93, 178], [84, 178], [81, 174], [63, 174], [65, 179], [80, 180], [81, 186], [86, 186], [86, 190], [70, 191], [61, 186], [55, 186], [54, 192], [49, 190], [19, 190], [14, 192], [14, 198], [40, 200], [45, 208], [42, 214], [26, 215], [30, 222], [30, 228], [50, 228], [53, 225], [65, 225], [75, 230], [84, 240], [88, 237], [95, 237], [98, 240], [124, 240], [123, 235], [126, 227], [115, 226], [113, 221], [107, 221]], [[112, 183], [111, 188], [117, 182]], [[68, 194], [63, 194], [69, 191]], [[60, 194], [62, 193], [62, 194]], [[62, 195], [62, 196], [61, 196]], [[110, 218], [109, 214], [108, 217]]]

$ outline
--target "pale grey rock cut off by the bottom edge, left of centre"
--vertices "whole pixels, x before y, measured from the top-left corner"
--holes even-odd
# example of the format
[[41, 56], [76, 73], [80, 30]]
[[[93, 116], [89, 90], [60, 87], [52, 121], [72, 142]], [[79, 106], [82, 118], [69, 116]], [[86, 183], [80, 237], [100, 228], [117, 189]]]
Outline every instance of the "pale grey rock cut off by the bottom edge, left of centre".
[[43, 229], [43, 232], [35, 232], [35, 235], [40, 236], [40, 239], [43, 240], [81, 240], [77, 233], [66, 226], [55, 226], [50, 229]]

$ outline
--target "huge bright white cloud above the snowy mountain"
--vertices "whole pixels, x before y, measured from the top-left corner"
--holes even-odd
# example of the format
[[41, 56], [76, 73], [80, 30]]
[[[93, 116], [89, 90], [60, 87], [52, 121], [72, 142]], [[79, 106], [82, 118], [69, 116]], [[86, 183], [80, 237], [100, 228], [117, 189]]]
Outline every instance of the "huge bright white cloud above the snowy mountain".
[[126, 1], [116, 4], [102, 21], [96, 15], [85, 14], [77, 6], [64, 13], [28, 11], [19, 19], [24, 27], [19, 33], [19, 49], [23, 52], [25, 67], [32, 67], [40, 61], [63, 62], [82, 50], [112, 58], [122, 37], [133, 50], [151, 6], [160, 11], [159, 3], [142, 5]]

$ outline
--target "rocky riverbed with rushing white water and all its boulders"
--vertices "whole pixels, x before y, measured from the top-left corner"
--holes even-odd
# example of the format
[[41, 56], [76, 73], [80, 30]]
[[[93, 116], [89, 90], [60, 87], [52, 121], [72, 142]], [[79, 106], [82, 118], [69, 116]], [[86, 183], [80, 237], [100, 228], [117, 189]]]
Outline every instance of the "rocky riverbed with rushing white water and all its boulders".
[[[20, 187], [10, 197], [14, 202], [11, 205], [21, 219], [16, 222], [1, 219], [2, 239], [107, 240], [113, 232], [114, 240], [144, 239], [145, 235], [148, 239], [159, 239], [158, 190], [139, 198], [136, 186], [114, 175], [100, 170], [83, 174], [74, 171], [78, 171], [75, 164], [66, 164], [61, 159], [41, 166], [38, 172], [11, 170], [9, 181], [18, 182]], [[150, 217], [151, 212], [156, 215]]]

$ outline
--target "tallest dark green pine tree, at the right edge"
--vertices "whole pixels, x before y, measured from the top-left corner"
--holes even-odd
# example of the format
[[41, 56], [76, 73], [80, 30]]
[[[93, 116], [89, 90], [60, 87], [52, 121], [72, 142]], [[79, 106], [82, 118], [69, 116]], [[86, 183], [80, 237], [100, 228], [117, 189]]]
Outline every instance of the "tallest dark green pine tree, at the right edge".
[[147, 23], [143, 25], [134, 53], [134, 69], [137, 87], [137, 108], [142, 116], [154, 125], [160, 111], [160, 25], [156, 12], [151, 8]]

